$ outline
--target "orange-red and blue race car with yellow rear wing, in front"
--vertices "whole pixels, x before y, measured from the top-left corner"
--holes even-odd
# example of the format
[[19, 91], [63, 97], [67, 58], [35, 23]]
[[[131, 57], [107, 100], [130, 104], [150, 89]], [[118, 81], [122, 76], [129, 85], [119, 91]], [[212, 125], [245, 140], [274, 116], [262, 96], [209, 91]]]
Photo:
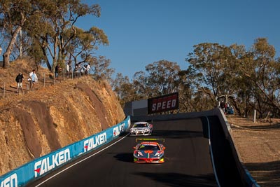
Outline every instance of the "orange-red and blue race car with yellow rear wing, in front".
[[165, 146], [159, 141], [165, 139], [136, 139], [139, 142], [134, 146], [134, 162], [136, 163], [163, 163], [165, 162]]

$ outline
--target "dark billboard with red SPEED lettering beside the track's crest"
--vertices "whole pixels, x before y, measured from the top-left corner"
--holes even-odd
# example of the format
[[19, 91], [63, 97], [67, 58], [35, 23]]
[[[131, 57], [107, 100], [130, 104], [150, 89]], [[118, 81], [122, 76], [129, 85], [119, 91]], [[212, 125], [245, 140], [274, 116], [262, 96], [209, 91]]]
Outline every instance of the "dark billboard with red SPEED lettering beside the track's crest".
[[148, 114], [179, 109], [178, 92], [148, 99]]

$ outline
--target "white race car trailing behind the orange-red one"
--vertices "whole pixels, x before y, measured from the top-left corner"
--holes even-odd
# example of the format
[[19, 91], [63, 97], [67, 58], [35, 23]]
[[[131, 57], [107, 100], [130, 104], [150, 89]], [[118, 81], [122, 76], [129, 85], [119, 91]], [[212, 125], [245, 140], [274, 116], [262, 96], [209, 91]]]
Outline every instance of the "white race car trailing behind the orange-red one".
[[146, 122], [136, 122], [130, 128], [130, 136], [148, 136], [153, 132], [153, 125]]

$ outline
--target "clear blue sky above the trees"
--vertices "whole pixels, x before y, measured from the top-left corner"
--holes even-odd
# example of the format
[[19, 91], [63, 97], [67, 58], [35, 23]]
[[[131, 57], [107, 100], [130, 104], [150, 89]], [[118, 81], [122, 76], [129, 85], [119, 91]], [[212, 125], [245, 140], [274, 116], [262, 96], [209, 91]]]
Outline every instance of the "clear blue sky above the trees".
[[160, 60], [185, 61], [199, 43], [233, 43], [251, 48], [267, 38], [280, 54], [280, 1], [278, 0], [94, 0], [100, 18], [78, 20], [78, 27], [99, 27], [109, 38], [96, 55], [111, 60], [116, 73], [131, 79], [137, 71]]

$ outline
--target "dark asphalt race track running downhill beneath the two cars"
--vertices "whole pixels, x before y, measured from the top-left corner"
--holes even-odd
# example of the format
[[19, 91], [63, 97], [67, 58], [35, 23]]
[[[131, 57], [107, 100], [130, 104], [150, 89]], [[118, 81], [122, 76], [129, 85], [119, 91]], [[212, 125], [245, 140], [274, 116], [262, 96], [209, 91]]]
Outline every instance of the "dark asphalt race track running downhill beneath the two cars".
[[[208, 122], [216, 169], [211, 162]], [[153, 125], [153, 136], [146, 138], [165, 138], [165, 163], [134, 163], [136, 137], [124, 134], [116, 139], [118, 143], [92, 151], [28, 186], [242, 186], [218, 118], [154, 121]]]

